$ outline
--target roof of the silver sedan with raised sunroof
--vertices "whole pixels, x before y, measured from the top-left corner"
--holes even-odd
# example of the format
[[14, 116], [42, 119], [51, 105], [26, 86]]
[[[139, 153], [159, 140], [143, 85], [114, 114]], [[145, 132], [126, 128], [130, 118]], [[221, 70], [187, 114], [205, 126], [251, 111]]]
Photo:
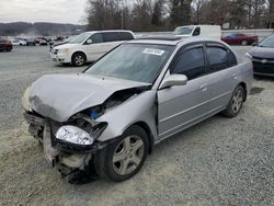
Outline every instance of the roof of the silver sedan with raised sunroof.
[[213, 43], [219, 43], [219, 44], [224, 45], [224, 42], [216, 41], [216, 39], [213, 39], [213, 38], [206, 38], [206, 37], [186, 37], [186, 38], [182, 38], [182, 37], [175, 36], [175, 35], [170, 35], [170, 36], [169, 35], [167, 35], [167, 36], [142, 36], [142, 37], [129, 41], [127, 43], [183, 46], [185, 44], [198, 43], [198, 42], [213, 42]]

